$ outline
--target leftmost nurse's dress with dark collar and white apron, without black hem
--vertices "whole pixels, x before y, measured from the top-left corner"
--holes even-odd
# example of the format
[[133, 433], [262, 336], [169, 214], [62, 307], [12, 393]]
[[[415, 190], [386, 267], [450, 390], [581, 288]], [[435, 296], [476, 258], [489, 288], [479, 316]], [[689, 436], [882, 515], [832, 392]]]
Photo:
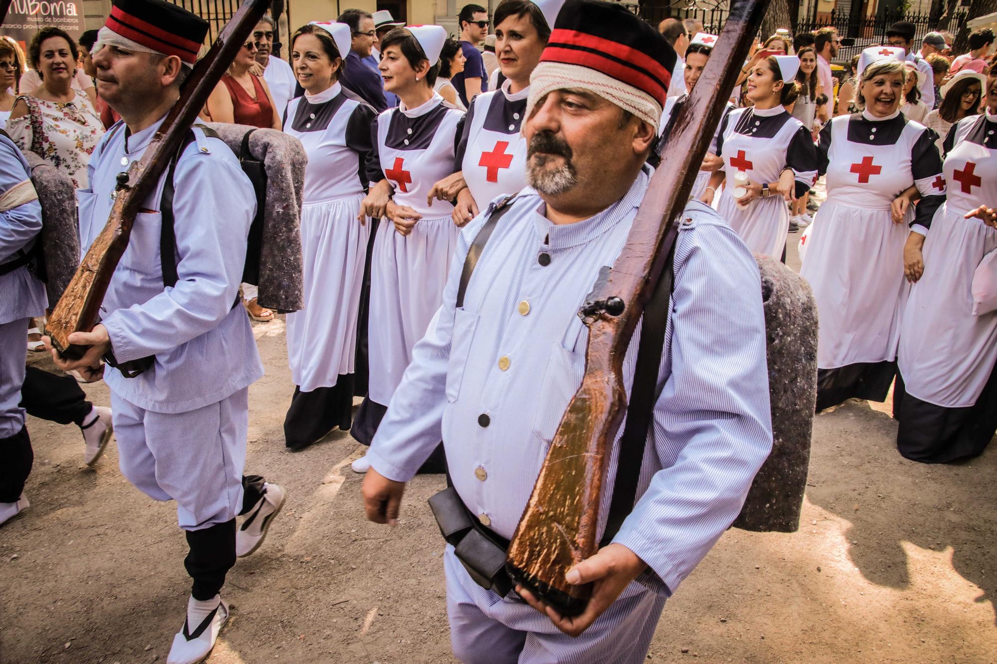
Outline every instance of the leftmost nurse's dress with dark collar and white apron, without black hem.
[[[271, 60], [272, 61], [272, 60]], [[353, 373], [357, 312], [370, 223], [357, 220], [367, 183], [374, 110], [339, 83], [294, 99], [284, 131], [308, 156], [301, 250], [304, 307], [287, 314], [291, 379], [301, 392], [334, 387]]]

